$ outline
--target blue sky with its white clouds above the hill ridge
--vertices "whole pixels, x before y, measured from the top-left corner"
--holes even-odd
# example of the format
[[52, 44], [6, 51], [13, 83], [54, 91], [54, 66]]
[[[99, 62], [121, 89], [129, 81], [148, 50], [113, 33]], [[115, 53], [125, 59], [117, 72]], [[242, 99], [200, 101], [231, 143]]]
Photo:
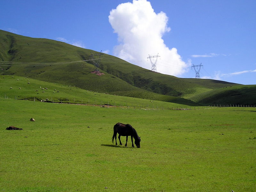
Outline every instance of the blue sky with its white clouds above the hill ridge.
[[191, 65], [202, 63], [201, 78], [256, 84], [256, 1], [148, 2], [1, 0], [0, 29], [102, 50], [148, 69], [148, 54], [159, 53], [161, 73], [194, 78]]

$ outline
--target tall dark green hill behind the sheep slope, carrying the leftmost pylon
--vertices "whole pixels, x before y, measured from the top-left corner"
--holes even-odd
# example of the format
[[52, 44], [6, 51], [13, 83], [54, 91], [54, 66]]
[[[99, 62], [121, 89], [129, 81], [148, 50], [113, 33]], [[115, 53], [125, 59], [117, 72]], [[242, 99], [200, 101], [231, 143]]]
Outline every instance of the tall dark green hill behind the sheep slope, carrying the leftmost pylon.
[[234, 85], [155, 73], [108, 54], [100, 60], [100, 72], [104, 75], [98, 76], [91, 73], [92, 61], [83, 61], [98, 52], [3, 30], [0, 30], [0, 46], [0, 74], [28, 76], [96, 92], [168, 101], [168, 96], [194, 99], [194, 95]]

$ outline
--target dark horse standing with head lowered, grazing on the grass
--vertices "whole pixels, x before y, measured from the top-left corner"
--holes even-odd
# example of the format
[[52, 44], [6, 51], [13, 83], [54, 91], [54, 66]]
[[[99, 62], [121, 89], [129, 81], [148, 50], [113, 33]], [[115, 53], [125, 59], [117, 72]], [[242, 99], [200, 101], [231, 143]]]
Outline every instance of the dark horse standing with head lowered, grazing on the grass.
[[[118, 139], [120, 141], [120, 145], [122, 145], [122, 142], [120, 140], [121, 136], [126, 136], [125, 147], [127, 147], [128, 136], [131, 136], [132, 147], [134, 147], [133, 139], [132, 139], [134, 137], [135, 145], [137, 146], [137, 148], [140, 148], [140, 137], [139, 137], [138, 133], [136, 132], [136, 130], [130, 124], [117, 123], [114, 125], [114, 134], [112, 137], [112, 143], [114, 143], [114, 138], [116, 139], [117, 133], [119, 134]], [[117, 145], [117, 142], [116, 142], [116, 145]]]

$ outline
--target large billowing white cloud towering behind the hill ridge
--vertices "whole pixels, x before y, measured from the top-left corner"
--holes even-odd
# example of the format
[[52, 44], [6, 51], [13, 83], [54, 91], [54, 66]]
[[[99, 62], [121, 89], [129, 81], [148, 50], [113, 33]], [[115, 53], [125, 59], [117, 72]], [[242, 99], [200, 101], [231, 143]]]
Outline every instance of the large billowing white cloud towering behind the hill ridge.
[[187, 71], [188, 64], [177, 49], [169, 49], [162, 39], [164, 33], [171, 30], [167, 26], [168, 17], [164, 12], [155, 13], [147, 0], [119, 4], [110, 11], [108, 20], [120, 42], [114, 47], [117, 57], [151, 69], [151, 63], [146, 61], [148, 55], [159, 54], [157, 72], [178, 76]]

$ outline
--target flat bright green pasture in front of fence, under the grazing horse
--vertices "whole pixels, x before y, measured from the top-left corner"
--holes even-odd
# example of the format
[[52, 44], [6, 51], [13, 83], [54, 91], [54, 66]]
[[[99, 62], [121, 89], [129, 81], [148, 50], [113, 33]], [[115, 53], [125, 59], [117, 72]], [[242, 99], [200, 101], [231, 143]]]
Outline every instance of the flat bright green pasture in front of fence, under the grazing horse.
[[[128, 110], [0, 98], [0, 191], [254, 192], [255, 111]], [[131, 148], [130, 138], [127, 148], [112, 144], [117, 122], [137, 130], [141, 148]], [[5, 130], [10, 125], [23, 130]]]

